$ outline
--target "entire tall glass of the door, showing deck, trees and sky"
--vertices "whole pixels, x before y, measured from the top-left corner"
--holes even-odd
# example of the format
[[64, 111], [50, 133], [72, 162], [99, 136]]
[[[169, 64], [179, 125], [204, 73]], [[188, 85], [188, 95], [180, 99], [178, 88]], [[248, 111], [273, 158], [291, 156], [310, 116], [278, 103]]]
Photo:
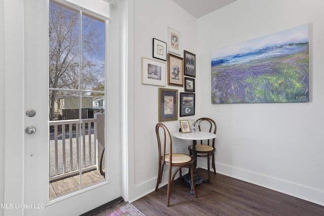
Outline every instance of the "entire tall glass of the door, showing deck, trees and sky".
[[54, 3], [49, 7], [52, 199], [105, 181], [105, 164], [100, 164], [105, 163], [101, 155], [105, 146], [106, 25], [82, 11]]

